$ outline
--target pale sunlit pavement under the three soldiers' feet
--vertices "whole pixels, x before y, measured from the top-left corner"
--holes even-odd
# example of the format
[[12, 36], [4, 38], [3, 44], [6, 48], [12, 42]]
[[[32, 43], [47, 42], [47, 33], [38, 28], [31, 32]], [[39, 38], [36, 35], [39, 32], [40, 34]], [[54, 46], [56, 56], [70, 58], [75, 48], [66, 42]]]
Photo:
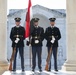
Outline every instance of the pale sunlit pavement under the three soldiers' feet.
[[66, 72], [66, 71], [59, 71], [59, 72], [55, 72], [55, 71], [51, 71], [51, 72], [46, 72], [46, 71], [42, 71], [41, 73], [39, 71], [25, 71], [25, 72], [21, 72], [20, 70], [17, 70], [16, 72], [10, 72], [10, 71], [6, 71], [4, 74], [2, 75], [76, 75], [76, 72]]

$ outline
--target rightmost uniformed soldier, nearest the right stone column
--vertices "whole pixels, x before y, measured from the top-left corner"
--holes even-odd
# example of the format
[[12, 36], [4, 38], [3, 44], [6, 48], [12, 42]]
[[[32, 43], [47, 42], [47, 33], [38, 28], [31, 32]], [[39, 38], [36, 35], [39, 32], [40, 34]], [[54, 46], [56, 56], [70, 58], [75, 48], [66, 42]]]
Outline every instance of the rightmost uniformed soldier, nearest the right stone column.
[[[55, 69], [55, 71], [58, 71], [58, 68], [57, 68], [57, 52], [58, 51], [57, 51], [57, 49], [58, 49], [58, 41], [61, 38], [61, 33], [60, 33], [59, 28], [55, 26], [56, 18], [50, 18], [49, 20], [50, 20], [51, 26], [46, 28], [45, 39], [47, 40], [48, 53], [50, 51], [50, 48], [52, 47], [52, 54], [54, 56], [54, 69]], [[48, 71], [51, 71], [51, 61], [49, 64]]]

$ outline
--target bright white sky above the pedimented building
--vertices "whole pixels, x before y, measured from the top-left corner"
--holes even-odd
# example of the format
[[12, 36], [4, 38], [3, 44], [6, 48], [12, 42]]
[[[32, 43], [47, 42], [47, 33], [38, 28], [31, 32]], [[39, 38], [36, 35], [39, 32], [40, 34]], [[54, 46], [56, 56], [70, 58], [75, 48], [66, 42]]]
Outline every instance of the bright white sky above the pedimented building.
[[[28, 7], [28, 0], [7, 0], [7, 10], [25, 9]], [[32, 6], [39, 4], [50, 9], [66, 9], [66, 0], [31, 0]]]

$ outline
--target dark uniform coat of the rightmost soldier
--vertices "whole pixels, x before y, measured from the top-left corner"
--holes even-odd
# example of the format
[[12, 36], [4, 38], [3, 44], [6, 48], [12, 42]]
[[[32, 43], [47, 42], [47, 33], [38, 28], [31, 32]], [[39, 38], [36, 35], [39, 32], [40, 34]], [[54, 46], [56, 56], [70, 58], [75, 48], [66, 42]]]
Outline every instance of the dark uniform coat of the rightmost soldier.
[[55, 42], [53, 44], [53, 47], [58, 47], [58, 40], [61, 38], [60, 30], [57, 27], [46, 28], [45, 31], [45, 39], [47, 40], [47, 47], [51, 47], [52, 43], [50, 42], [52, 40], [52, 36], [55, 37]]

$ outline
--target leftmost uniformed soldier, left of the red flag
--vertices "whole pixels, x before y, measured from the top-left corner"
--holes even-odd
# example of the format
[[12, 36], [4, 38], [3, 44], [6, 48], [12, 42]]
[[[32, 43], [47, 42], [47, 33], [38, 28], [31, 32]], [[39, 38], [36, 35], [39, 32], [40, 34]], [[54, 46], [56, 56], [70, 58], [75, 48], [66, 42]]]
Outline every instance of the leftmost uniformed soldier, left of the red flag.
[[19, 51], [21, 57], [21, 68], [24, 71], [24, 39], [25, 39], [25, 29], [20, 25], [21, 18], [16, 17], [15, 19], [16, 26], [11, 29], [10, 39], [12, 41], [12, 48], [16, 47], [16, 53], [14, 56], [13, 62], [13, 71], [16, 71], [16, 57]]

